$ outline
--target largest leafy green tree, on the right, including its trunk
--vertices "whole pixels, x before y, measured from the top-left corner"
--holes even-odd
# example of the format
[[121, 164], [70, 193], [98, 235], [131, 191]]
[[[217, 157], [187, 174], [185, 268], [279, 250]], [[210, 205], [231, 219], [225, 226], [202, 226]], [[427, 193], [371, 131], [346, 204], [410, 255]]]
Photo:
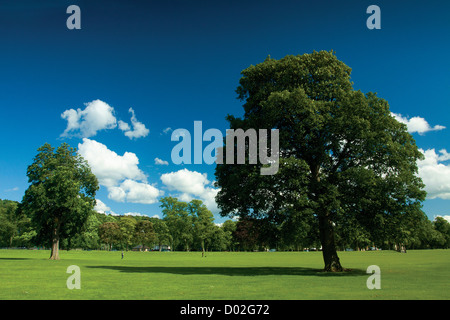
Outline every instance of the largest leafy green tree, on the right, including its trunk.
[[338, 224], [355, 219], [375, 233], [395, 221], [399, 230], [425, 198], [416, 176], [423, 155], [406, 125], [391, 115], [387, 101], [354, 90], [350, 73], [326, 51], [268, 57], [243, 70], [237, 93], [245, 113], [229, 115], [230, 128], [278, 129], [279, 170], [261, 175], [262, 164], [248, 161], [216, 167], [222, 215], [313, 217], [326, 271], [343, 270]]

